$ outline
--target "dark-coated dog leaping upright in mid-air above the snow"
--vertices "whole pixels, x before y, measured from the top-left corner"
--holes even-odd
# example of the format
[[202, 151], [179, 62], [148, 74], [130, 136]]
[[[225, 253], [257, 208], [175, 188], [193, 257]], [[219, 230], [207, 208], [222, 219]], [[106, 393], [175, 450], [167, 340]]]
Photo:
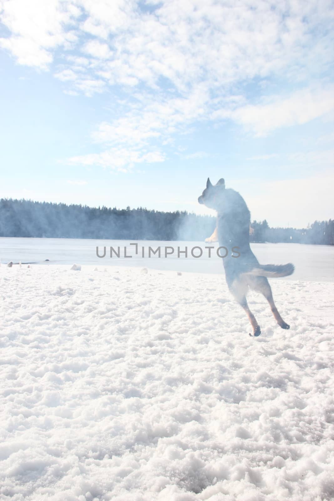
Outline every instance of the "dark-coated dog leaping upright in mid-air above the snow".
[[[239, 256], [227, 255], [223, 260], [227, 286], [236, 301], [245, 310], [253, 328], [253, 335], [261, 334], [254, 315], [249, 310], [246, 294], [248, 289], [263, 294], [268, 301], [277, 324], [282, 329], [290, 326], [279, 315], [272, 298], [268, 278], [287, 277], [294, 271], [291, 263], [287, 265], [260, 265], [249, 245], [250, 212], [242, 196], [235, 190], [225, 188], [224, 179], [216, 185], [208, 178], [206, 188], [198, 197], [198, 202], [217, 211], [217, 234], [219, 245], [238, 247]], [[214, 237], [214, 233], [210, 238]], [[212, 241], [212, 240], [211, 240]], [[250, 336], [252, 334], [249, 333]]]

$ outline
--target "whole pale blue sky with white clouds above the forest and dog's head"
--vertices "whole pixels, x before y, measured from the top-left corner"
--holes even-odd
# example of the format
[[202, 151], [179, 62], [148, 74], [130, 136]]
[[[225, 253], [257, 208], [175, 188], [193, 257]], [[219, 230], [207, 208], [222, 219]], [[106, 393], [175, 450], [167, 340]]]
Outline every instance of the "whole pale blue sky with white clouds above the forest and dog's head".
[[334, 3], [0, 0], [0, 197], [334, 217]]

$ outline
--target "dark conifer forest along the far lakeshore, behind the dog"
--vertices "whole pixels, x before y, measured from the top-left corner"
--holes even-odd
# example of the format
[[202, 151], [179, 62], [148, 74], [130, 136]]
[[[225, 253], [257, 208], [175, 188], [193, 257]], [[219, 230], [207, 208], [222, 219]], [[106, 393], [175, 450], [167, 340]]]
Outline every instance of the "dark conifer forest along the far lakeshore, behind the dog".
[[[176, 210], [163, 212], [116, 207], [88, 207], [32, 200], [0, 200], [0, 236], [104, 238], [132, 240], [204, 240], [216, 218]], [[253, 221], [252, 242], [334, 244], [334, 221], [314, 221], [306, 228], [271, 228]]]

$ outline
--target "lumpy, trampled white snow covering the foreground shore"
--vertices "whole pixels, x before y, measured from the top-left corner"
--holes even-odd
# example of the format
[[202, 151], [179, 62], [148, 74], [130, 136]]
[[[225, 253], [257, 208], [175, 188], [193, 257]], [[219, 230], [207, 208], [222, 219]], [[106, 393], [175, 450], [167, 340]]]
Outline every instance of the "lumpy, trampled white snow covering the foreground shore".
[[334, 496], [334, 284], [0, 268], [0, 499]]

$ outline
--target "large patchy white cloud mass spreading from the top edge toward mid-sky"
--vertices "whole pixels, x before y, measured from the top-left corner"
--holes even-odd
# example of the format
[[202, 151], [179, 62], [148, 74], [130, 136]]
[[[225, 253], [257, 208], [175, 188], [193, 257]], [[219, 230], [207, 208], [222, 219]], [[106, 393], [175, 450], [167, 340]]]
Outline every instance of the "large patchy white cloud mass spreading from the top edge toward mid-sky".
[[[328, 118], [334, 109], [333, 88], [313, 84], [332, 58], [329, 0], [166, 0], [150, 3], [149, 11], [136, 0], [1, 5], [9, 36], [0, 45], [19, 64], [52, 68], [68, 94], [122, 88], [126, 104], [93, 133], [107, 148], [103, 164], [110, 147], [130, 148], [131, 160], [134, 147], [154, 153], [158, 142], [171, 144], [204, 120], [230, 119], [265, 136]], [[254, 102], [245, 84], [258, 95], [272, 79], [282, 82], [284, 97]], [[298, 90], [289, 93], [290, 82]]]

